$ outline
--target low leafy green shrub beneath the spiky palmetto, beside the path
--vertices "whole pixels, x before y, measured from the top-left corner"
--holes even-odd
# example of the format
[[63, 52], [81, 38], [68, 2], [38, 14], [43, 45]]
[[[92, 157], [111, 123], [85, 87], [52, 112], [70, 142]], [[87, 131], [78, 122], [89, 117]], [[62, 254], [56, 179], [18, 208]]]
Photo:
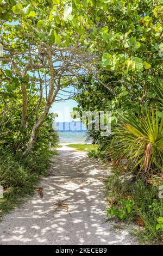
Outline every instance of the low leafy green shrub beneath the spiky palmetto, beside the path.
[[122, 184], [120, 172], [115, 170], [106, 181], [106, 199], [110, 204], [108, 215], [134, 223], [137, 217], [141, 218], [144, 228], [136, 235], [144, 243], [162, 240], [158, 220], [163, 212], [163, 199], [159, 198], [158, 186], [147, 184], [141, 177], [128, 185]]

